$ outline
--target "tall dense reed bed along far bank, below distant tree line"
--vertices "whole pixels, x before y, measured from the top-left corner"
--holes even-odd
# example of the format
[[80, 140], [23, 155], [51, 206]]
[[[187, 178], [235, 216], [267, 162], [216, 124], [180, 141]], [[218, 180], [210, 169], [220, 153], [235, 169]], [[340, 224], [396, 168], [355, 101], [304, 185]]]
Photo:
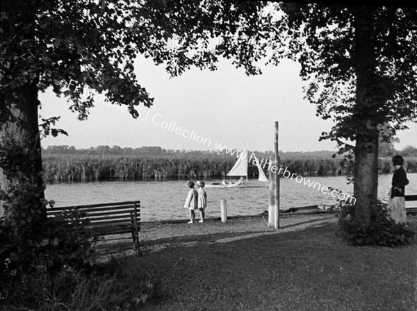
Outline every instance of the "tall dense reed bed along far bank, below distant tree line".
[[[257, 155], [260, 159], [268, 154]], [[408, 172], [417, 171], [417, 158], [405, 158]], [[236, 162], [225, 154], [166, 153], [162, 155], [46, 155], [47, 183], [112, 180], [165, 180], [224, 178]], [[302, 176], [346, 176], [352, 164], [343, 158], [291, 156], [281, 158], [281, 167]], [[391, 158], [379, 159], [379, 174], [392, 171]], [[265, 172], [268, 176], [268, 165]], [[257, 178], [257, 168], [248, 165], [248, 177]]]

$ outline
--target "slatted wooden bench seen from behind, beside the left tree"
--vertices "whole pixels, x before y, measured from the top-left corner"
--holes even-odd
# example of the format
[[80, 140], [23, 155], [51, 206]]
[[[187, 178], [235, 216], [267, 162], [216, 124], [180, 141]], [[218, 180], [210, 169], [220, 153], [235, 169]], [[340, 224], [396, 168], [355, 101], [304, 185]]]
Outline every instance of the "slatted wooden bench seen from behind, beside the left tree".
[[133, 251], [139, 250], [140, 201], [48, 208], [47, 215], [54, 217], [74, 210], [83, 212], [81, 219], [88, 219], [88, 224], [84, 226], [85, 233], [93, 236], [131, 233]]

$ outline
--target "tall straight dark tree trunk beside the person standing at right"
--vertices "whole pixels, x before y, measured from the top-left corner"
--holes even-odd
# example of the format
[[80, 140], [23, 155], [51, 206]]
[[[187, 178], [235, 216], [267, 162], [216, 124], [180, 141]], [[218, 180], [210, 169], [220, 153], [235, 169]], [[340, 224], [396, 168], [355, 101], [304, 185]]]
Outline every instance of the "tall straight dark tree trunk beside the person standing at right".
[[378, 128], [373, 112], [378, 106], [374, 96], [375, 8], [354, 8], [355, 71], [357, 75], [356, 105], [353, 120], [357, 126], [354, 149], [355, 221], [370, 223], [370, 208], [378, 197]]

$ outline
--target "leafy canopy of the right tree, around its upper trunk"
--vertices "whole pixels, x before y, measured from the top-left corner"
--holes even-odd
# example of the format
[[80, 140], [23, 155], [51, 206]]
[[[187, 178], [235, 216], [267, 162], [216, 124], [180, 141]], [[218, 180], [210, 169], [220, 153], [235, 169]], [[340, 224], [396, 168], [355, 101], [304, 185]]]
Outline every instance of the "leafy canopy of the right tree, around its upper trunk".
[[[306, 98], [316, 104], [317, 115], [336, 125], [329, 138], [352, 148], [357, 135], [367, 133], [362, 119], [371, 117], [380, 126], [391, 126], [395, 135], [406, 121], [417, 121], [417, 10], [395, 7], [324, 6], [280, 3], [284, 12], [275, 24], [275, 62], [281, 57], [300, 62], [306, 81]], [[372, 102], [356, 104], [357, 76], [354, 33], [355, 10], [365, 10], [373, 22], [375, 68], [366, 81]], [[384, 138], [389, 140], [391, 135]]]

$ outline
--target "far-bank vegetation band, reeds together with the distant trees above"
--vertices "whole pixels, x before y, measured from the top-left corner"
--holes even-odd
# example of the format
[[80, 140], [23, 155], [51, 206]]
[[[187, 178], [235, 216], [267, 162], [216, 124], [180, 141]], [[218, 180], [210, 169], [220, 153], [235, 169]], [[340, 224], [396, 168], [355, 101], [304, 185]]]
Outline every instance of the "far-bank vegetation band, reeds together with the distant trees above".
[[[402, 154], [407, 171], [417, 172], [417, 156], [413, 156], [417, 154], [417, 149], [407, 147], [404, 151]], [[272, 155], [272, 151], [253, 152], [259, 160], [266, 160]], [[97, 146], [90, 149], [49, 146], [43, 155], [44, 178], [48, 183], [226, 178], [227, 172], [236, 162], [236, 154], [166, 150], [157, 146], [136, 149], [120, 146]], [[352, 162], [343, 158], [343, 155], [332, 155], [332, 151], [281, 152], [281, 167], [288, 167], [291, 172], [302, 176], [350, 175]], [[268, 166], [264, 168], [268, 176]], [[390, 156], [379, 159], [379, 174], [388, 174], [392, 168]], [[248, 166], [248, 177], [258, 177], [254, 165]]]

